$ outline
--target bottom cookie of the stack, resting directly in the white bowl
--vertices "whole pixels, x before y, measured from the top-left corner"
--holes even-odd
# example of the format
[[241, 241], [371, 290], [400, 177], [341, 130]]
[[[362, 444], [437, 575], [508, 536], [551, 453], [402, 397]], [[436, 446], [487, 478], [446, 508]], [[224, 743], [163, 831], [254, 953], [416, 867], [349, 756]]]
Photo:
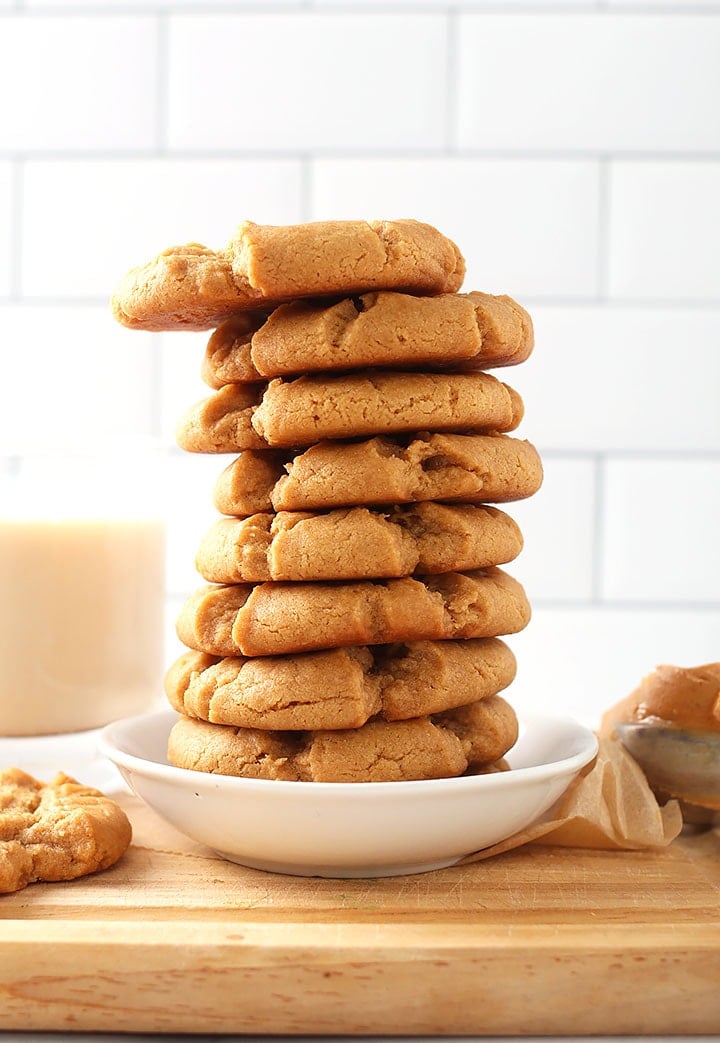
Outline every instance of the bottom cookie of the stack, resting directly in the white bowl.
[[[181, 718], [168, 741], [178, 768], [290, 782], [407, 782], [452, 778], [499, 760], [518, 723], [501, 696], [410, 721], [342, 731], [260, 731]], [[482, 761], [480, 757], [486, 757]]]

